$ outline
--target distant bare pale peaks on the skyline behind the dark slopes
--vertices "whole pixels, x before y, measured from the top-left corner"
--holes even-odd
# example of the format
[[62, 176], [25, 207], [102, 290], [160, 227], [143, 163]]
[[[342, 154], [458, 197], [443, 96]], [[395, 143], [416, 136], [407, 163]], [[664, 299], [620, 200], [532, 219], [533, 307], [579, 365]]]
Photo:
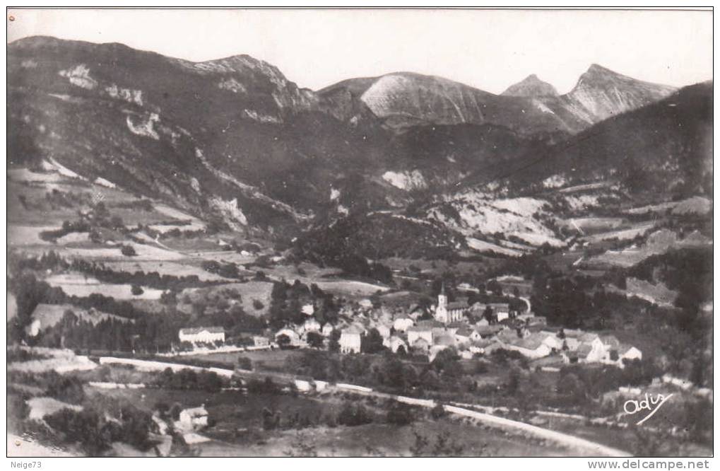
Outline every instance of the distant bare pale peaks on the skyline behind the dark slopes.
[[351, 79], [319, 91], [332, 99], [344, 94], [336, 116], [358, 119], [362, 108], [392, 130], [417, 125], [492, 124], [526, 136], [578, 133], [619, 113], [652, 103], [674, 89], [649, 84], [590, 66], [569, 94], [531, 75], [501, 95], [417, 73], [390, 73], [375, 79]]

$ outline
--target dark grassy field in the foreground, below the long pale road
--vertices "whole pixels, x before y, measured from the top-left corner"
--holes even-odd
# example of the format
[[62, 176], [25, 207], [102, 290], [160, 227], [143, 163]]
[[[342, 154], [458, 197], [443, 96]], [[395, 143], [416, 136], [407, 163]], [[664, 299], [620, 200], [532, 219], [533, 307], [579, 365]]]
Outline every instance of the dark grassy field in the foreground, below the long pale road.
[[[91, 394], [127, 400], [151, 411], [158, 401], [180, 403], [182, 407], [204, 404], [215, 426], [200, 434], [210, 441], [195, 444], [201, 456], [284, 456], [318, 454], [320, 456], [387, 455], [410, 456], [415, 433], [431, 441], [447, 433], [451, 444], [462, 448], [462, 456], [561, 456], [567, 450], [555, 444], [488, 429], [451, 416], [432, 421], [427, 411], [415, 412], [417, 420], [407, 426], [384, 423], [384, 409], [370, 403], [374, 423], [362, 426], [311, 426], [307, 429], [264, 431], [261, 411], [281, 411], [282, 417], [299, 413], [315, 419], [330, 416], [341, 408], [343, 399], [333, 395], [243, 395], [235, 391], [208, 394], [177, 390], [92, 390]], [[354, 399], [354, 402], [361, 401]], [[383, 406], [384, 407], [384, 406]], [[302, 444], [302, 445], [301, 445]]]

